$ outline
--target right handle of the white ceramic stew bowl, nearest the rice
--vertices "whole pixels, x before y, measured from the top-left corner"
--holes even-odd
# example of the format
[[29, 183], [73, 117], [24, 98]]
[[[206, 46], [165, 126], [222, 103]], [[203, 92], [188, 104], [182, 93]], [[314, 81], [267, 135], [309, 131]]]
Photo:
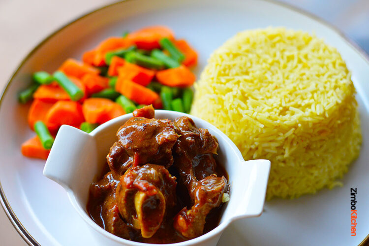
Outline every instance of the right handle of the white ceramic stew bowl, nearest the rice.
[[[243, 161], [238, 165], [238, 176], [246, 182], [234, 192], [241, 197], [233, 214], [233, 219], [260, 216], [263, 212], [265, 194], [271, 162], [269, 160]], [[248, 177], [245, 174], [249, 174]]]

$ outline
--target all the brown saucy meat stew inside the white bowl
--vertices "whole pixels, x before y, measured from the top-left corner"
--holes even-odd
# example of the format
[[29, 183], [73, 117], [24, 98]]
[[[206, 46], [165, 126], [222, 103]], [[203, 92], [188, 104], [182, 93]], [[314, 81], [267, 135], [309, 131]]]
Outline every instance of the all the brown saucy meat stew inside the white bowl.
[[91, 185], [92, 219], [124, 239], [155, 244], [214, 229], [229, 192], [215, 137], [187, 116], [155, 119], [152, 106], [133, 116], [117, 132], [104, 176]]

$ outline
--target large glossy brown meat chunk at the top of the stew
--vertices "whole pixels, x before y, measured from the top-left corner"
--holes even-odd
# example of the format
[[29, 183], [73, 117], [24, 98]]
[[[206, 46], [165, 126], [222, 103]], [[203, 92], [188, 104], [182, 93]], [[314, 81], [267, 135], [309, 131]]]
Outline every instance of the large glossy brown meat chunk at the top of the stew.
[[133, 157], [133, 166], [152, 163], [169, 168], [173, 164], [172, 148], [179, 135], [167, 119], [130, 118], [118, 130], [117, 137]]

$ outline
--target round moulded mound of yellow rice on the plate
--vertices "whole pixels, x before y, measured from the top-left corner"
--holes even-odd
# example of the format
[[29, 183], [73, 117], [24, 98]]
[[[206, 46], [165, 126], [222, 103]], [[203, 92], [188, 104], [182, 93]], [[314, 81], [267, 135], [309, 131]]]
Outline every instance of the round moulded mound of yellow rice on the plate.
[[191, 114], [223, 131], [245, 160], [269, 159], [267, 198], [332, 188], [359, 155], [355, 88], [338, 51], [284, 28], [241, 32], [211, 55]]

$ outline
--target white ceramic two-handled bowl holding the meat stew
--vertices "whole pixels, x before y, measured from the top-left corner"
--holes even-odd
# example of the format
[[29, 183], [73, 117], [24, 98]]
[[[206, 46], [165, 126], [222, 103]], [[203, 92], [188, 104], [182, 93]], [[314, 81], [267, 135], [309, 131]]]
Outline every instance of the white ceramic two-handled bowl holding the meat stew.
[[[175, 111], [155, 110], [156, 119], [174, 120], [187, 115]], [[227, 202], [219, 225], [212, 231], [182, 242], [175, 246], [215, 246], [224, 229], [234, 220], [256, 217], [263, 211], [265, 193], [270, 171], [270, 161], [244, 161], [236, 145], [210, 123], [187, 115], [199, 128], [208, 129], [219, 143], [217, 161], [223, 165], [229, 176], [230, 200]], [[86, 221], [88, 226], [105, 237], [96, 237], [101, 245], [142, 246], [144, 243], [132, 242], [117, 237], [98, 226], [88, 215], [86, 205], [89, 187], [100, 176], [106, 164], [110, 146], [117, 140], [117, 130], [132, 113], [125, 114], [102, 124], [87, 134], [77, 128], [63, 125], [55, 139], [43, 174], [64, 187], [69, 200]]]

